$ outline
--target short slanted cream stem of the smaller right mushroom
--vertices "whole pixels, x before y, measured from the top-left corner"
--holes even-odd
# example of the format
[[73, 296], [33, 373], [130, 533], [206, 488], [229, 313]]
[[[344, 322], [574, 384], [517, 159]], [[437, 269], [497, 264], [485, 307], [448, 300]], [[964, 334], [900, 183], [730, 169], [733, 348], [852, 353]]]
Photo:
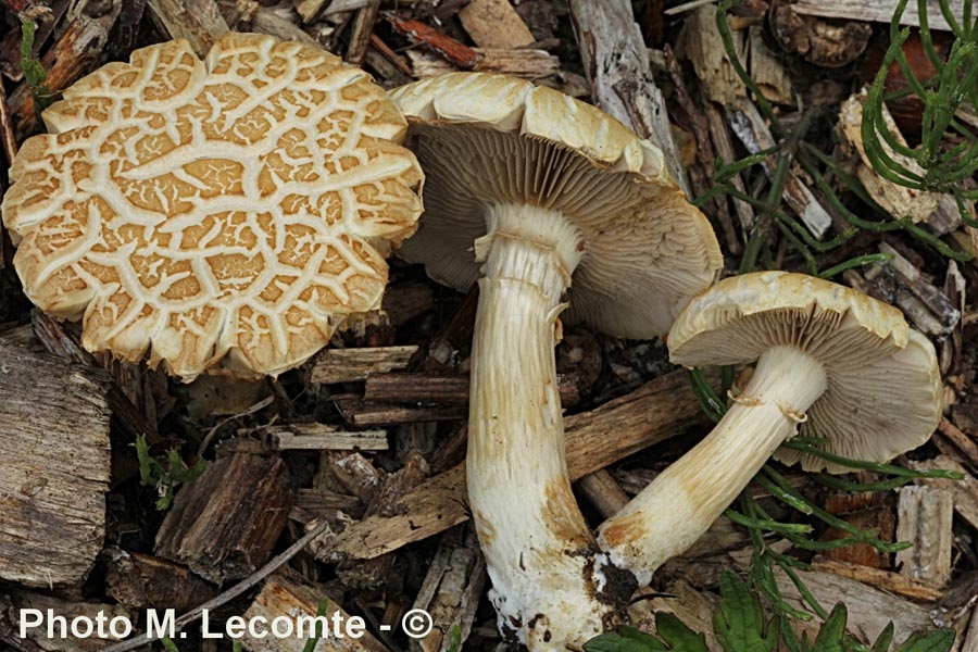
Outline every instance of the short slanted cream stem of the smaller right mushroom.
[[662, 472], [599, 528], [598, 542], [640, 584], [681, 554], [798, 432], [825, 392], [825, 369], [798, 347], [766, 350], [747, 389], [703, 441]]

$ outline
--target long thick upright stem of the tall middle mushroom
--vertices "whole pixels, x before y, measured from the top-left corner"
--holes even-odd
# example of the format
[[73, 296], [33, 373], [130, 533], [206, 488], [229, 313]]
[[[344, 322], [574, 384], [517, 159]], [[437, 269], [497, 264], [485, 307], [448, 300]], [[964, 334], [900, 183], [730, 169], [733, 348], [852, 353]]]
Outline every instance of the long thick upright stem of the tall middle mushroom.
[[603, 597], [617, 577], [595, 559], [564, 456], [555, 319], [580, 239], [546, 209], [499, 205], [487, 223], [476, 242], [485, 278], [472, 351], [473, 518], [501, 629], [530, 650], [579, 649], [615, 611]]

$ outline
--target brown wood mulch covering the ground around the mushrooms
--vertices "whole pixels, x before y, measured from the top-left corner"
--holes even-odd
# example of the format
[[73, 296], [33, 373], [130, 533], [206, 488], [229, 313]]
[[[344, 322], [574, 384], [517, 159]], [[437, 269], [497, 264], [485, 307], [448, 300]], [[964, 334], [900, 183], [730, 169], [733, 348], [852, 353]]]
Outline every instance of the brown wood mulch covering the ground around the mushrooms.
[[[781, 123], [790, 128], [814, 110], [806, 139], [852, 163], [836, 130], [838, 105], [875, 73], [893, 7], [747, 0], [729, 22]], [[698, 197], [711, 188], [717, 158], [731, 162], [779, 142], [730, 67], [714, 12], [712, 3], [668, 0], [0, 0], [0, 159], [9, 165], [18, 143], [40, 129], [20, 68], [22, 20], [37, 23], [35, 54], [55, 96], [135, 48], [183, 37], [203, 52], [233, 28], [316, 43], [363, 65], [386, 88], [455, 70], [552, 86], [668, 143], [667, 164]], [[894, 114], [912, 139], [912, 116]], [[756, 193], [763, 174], [737, 175], [731, 184]], [[844, 227], [797, 165], [782, 201], [813, 237]], [[757, 209], [720, 197], [703, 210], [726, 272], [736, 273]], [[946, 206], [924, 217], [930, 233], [978, 251], [976, 231]], [[806, 269], [779, 231], [769, 229], [767, 238], [766, 264]], [[180, 385], [146, 366], [89, 354], [77, 325], [33, 311], [13, 252], [0, 227], [0, 645], [35, 652], [105, 643], [21, 638], [18, 613], [26, 607], [68, 616], [104, 610], [131, 616], [138, 627], [152, 607], [187, 614], [181, 651], [224, 650], [229, 641], [201, 639], [201, 605], [214, 606], [212, 620], [271, 618], [315, 612], [326, 597], [327, 614], [360, 616], [367, 630], [335, 649], [447, 650], [455, 625], [465, 650], [496, 649], [496, 615], [460, 466], [474, 293], [440, 287], [421, 267], [393, 259], [384, 311], [339, 334], [303, 367], [254, 384]], [[931, 442], [899, 462], [958, 469], [965, 480], [853, 496], [786, 471], [825, 510], [916, 546], [896, 554], [866, 546], [807, 554], [813, 566], [802, 575], [823, 604], [850, 604], [850, 628], [870, 639], [889, 620], [896, 640], [919, 627], [949, 626], [961, 632], [957, 649], [978, 650], [971, 617], [978, 312], [968, 292], [978, 269], [902, 231], [861, 234], [818, 262], [825, 268], [880, 252], [892, 260], [836, 280], [898, 305], [932, 338], [948, 404]], [[687, 374], [668, 364], [659, 342], [566, 328], [557, 371], [570, 474], [594, 525], [709, 430]], [[175, 449], [190, 466], [206, 462], [165, 511], [155, 507], [158, 490], [140, 481], [138, 436], [154, 456]], [[61, 500], [32, 500], [38, 482], [58, 482]], [[801, 518], [757, 496], [772, 514]], [[651, 614], [665, 610], [712, 631], [719, 574], [744, 568], [751, 550], [745, 532], [720, 518], [656, 574], [653, 588], [665, 597], [638, 602], [634, 620], [651, 627]], [[791, 582], [778, 581], [787, 600], [801, 605]], [[401, 618], [414, 609], [435, 618], [423, 641], [401, 631]], [[717, 649], [709, 636], [707, 642]], [[301, 649], [274, 639], [244, 643]]]

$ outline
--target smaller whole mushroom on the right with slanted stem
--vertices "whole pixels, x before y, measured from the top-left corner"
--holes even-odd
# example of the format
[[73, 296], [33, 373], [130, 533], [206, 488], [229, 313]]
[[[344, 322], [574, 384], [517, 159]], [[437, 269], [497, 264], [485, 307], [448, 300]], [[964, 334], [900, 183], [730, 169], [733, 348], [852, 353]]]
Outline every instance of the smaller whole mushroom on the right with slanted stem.
[[[689, 367], [757, 361], [713, 431], [599, 528], [612, 561], [641, 582], [680, 554], [799, 430], [826, 450], [886, 462], [930, 437], [941, 416], [933, 346], [899, 310], [856, 290], [783, 272], [722, 280], [668, 336]], [[781, 449], [805, 471], [845, 467]]]

